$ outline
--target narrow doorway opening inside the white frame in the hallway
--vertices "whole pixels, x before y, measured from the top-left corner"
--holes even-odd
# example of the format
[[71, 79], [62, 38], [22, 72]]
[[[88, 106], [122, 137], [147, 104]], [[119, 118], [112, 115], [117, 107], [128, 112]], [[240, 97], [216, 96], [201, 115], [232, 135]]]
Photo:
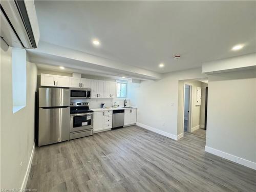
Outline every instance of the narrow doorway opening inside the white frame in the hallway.
[[191, 91], [193, 86], [188, 83], [184, 83], [184, 118], [183, 118], [183, 130], [184, 132], [190, 132], [191, 125]]

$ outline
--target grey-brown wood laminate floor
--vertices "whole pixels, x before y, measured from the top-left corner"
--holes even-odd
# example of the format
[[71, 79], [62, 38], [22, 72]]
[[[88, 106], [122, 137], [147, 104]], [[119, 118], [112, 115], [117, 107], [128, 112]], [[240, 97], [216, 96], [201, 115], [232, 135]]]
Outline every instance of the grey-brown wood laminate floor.
[[37, 191], [256, 191], [256, 171], [204, 152], [205, 131], [179, 141], [138, 126], [36, 147]]

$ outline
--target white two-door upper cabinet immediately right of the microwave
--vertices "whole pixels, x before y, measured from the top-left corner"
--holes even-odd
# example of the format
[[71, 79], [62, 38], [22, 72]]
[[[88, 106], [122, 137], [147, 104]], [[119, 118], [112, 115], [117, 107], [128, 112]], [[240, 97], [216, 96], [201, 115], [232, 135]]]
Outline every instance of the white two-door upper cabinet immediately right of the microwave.
[[91, 98], [104, 98], [105, 81], [91, 79]]

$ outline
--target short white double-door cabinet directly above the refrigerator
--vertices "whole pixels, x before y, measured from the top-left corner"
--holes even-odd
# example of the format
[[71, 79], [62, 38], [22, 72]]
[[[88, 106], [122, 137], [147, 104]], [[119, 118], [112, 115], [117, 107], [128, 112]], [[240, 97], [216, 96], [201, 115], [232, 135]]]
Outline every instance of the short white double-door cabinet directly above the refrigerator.
[[69, 77], [51, 74], [41, 74], [41, 86], [69, 87]]

